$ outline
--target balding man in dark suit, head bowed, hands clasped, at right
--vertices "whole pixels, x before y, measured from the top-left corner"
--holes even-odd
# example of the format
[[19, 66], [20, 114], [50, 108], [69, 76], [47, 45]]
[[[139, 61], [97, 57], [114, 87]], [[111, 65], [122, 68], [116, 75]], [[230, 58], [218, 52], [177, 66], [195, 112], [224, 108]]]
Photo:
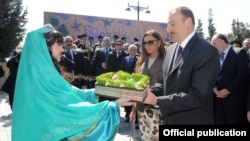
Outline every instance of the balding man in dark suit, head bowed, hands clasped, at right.
[[214, 88], [215, 123], [246, 124], [248, 95], [248, 55], [246, 50], [233, 47], [223, 34], [211, 40], [220, 53], [220, 74]]

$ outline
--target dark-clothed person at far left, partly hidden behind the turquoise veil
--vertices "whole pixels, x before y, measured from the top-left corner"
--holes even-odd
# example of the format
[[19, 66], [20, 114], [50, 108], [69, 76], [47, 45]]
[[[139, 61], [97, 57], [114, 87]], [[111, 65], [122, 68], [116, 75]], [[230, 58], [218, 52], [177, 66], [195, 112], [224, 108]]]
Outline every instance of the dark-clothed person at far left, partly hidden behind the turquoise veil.
[[9, 76], [5, 80], [1, 90], [9, 94], [10, 108], [13, 108], [14, 91], [16, 84], [16, 75], [19, 66], [20, 57], [22, 54], [22, 46], [17, 46], [11, 53], [8, 61], [7, 67], [9, 68]]

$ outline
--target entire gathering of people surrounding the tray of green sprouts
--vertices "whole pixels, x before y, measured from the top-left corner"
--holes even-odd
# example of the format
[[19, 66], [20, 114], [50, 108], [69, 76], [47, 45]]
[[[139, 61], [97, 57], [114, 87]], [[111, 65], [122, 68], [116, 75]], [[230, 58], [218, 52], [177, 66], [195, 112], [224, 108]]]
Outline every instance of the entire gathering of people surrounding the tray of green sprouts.
[[[139, 124], [143, 141], [159, 140], [159, 125], [249, 124], [250, 38], [242, 47], [223, 34], [205, 40], [188, 7], [171, 10], [167, 24], [171, 44], [155, 30], [132, 43], [117, 35], [96, 43], [87, 34], [63, 37], [51, 25], [28, 33], [8, 61], [15, 63], [12, 82], [2, 87], [13, 110], [12, 140], [110, 141], [119, 106], [126, 122]], [[95, 95], [95, 76], [119, 70], [150, 77], [143, 103], [133, 94]]]

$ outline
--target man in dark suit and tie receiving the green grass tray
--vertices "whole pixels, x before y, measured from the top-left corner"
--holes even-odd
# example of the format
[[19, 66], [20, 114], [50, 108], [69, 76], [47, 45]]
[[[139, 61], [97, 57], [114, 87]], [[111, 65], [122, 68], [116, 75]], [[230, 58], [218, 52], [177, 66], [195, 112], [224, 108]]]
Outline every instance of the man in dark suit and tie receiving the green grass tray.
[[170, 11], [167, 31], [176, 43], [166, 48], [162, 82], [151, 91], [147, 87], [144, 100], [159, 106], [163, 124], [214, 124], [213, 87], [219, 75], [219, 54], [194, 27], [189, 8]]

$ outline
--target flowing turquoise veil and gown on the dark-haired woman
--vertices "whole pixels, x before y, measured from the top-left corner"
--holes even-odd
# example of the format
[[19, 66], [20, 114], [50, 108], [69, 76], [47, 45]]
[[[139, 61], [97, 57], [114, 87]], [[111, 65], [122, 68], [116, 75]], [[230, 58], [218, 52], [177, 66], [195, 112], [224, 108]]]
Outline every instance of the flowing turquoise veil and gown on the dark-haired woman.
[[116, 102], [96, 103], [95, 90], [71, 86], [55, 68], [43, 33], [29, 32], [18, 68], [12, 141], [111, 141], [120, 123]]

